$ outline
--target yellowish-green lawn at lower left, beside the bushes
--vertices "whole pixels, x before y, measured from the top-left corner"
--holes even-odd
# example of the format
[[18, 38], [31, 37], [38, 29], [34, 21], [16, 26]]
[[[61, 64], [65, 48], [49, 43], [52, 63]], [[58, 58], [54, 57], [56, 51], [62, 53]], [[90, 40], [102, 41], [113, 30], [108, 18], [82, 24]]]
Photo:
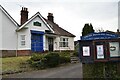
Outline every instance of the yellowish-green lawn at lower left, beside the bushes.
[[23, 72], [30, 69], [26, 61], [30, 56], [2, 58], [2, 73]]

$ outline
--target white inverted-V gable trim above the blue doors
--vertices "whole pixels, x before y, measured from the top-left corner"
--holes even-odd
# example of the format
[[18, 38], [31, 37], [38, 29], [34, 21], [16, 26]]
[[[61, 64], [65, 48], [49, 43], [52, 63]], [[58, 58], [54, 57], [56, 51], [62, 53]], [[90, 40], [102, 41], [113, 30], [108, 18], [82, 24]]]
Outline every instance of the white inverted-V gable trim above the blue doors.
[[46, 23], [46, 21], [43, 19], [43, 17], [42, 17], [42, 15], [39, 13], [39, 12], [37, 12], [35, 15], [33, 15], [30, 19], [28, 19], [23, 25], [21, 25], [21, 27], [19, 27], [18, 29], [17, 29], [17, 31], [19, 31], [19, 30], [21, 30], [21, 29], [23, 29], [24, 27], [25, 27], [25, 25], [27, 25], [30, 21], [32, 21], [34, 18], [36, 18], [36, 17], [40, 17], [40, 19], [45, 23], [45, 25], [48, 27], [48, 29], [50, 29], [52, 32], [54, 32], [52, 29], [51, 29], [51, 27]]

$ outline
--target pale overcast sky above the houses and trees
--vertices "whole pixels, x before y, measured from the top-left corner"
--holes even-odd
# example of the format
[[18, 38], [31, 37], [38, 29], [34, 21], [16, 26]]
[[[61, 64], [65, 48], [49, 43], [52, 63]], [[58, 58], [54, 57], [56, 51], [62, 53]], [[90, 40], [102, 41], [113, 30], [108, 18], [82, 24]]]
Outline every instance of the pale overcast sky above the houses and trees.
[[91, 23], [94, 30], [117, 31], [119, 0], [0, 0], [5, 10], [20, 23], [20, 10], [28, 8], [29, 18], [40, 12], [47, 18], [53, 13], [54, 22], [74, 34], [82, 35], [84, 24]]

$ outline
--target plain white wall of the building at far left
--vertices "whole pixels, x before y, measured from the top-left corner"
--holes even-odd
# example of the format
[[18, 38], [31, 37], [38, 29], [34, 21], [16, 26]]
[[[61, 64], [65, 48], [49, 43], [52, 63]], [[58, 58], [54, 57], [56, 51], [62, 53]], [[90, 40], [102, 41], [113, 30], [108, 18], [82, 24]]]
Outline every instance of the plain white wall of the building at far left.
[[16, 50], [17, 26], [2, 12], [2, 50]]

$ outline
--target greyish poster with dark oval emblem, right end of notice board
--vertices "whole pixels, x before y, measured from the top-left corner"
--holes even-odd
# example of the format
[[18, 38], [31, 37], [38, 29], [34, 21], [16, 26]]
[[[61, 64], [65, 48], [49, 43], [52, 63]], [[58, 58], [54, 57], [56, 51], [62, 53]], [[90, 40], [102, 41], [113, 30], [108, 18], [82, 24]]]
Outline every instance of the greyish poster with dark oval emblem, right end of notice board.
[[110, 57], [120, 57], [119, 42], [109, 42]]

